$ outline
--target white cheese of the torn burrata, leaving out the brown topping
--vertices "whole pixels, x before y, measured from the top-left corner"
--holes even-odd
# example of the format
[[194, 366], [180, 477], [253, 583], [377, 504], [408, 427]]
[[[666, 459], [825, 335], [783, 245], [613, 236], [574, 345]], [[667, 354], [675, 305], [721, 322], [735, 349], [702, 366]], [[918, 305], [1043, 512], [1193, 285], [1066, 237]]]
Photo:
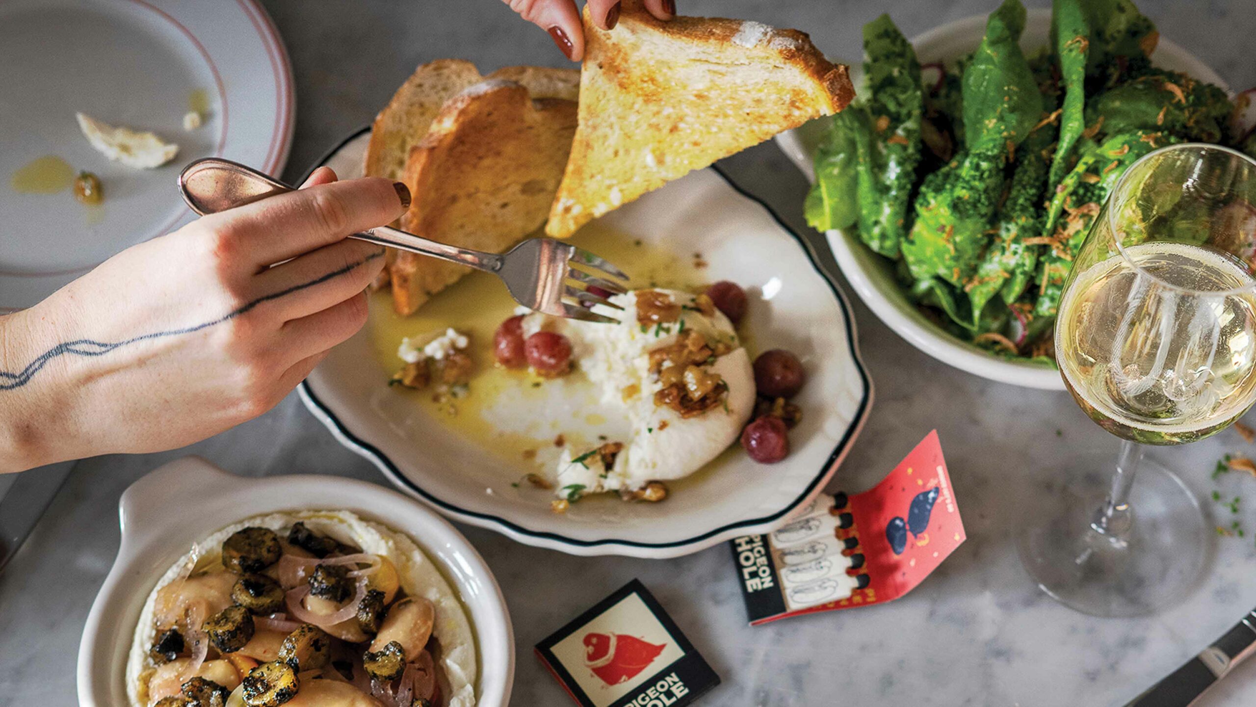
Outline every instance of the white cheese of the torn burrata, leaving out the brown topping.
[[[598, 455], [588, 455], [592, 450], [564, 450], [555, 482], [555, 494], [561, 499], [573, 491], [634, 491], [651, 481], [688, 476], [732, 445], [754, 412], [754, 369], [728, 318], [720, 310], [711, 316], [702, 314], [688, 293], [656, 291], [683, 305], [679, 320], [648, 327], [638, 324], [636, 291], [610, 298], [624, 308], [623, 311], [605, 311], [618, 318], [618, 324], [559, 319], [539, 313], [522, 320], [525, 337], [545, 329], [570, 339], [577, 365], [599, 388], [603, 403], [599, 412], [608, 417], [623, 414], [632, 428], [628, 440], [610, 440], [623, 442], [624, 448], [609, 470], [603, 467]], [[725, 342], [732, 350], [710, 368], [728, 386], [727, 404], [683, 418], [668, 407], [654, 404], [654, 393], [662, 384], [649, 372], [649, 352], [674, 344], [677, 334], [690, 330], [700, 332], [711, 343]]]

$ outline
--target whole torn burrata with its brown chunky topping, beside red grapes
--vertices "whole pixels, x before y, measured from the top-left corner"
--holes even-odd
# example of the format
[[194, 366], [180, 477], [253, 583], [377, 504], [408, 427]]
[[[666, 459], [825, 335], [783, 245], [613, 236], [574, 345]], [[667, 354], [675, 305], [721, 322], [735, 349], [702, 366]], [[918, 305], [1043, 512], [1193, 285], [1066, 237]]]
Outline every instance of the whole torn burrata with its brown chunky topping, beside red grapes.
[[521, 321], [524, 337], [566, 337], [575, 365], [599, 388], [603, 414], [623, 414], [632, 429], [624, 440], [564, 450], [555, 495], [661, 500], [662, 482], [693, 473], [737, 441], [755, 407], [754, 369], [732, 321], [706, 295], [636, 290], [609, 300], [624, 308], [605, 311], [618, 324], [540, 313]]

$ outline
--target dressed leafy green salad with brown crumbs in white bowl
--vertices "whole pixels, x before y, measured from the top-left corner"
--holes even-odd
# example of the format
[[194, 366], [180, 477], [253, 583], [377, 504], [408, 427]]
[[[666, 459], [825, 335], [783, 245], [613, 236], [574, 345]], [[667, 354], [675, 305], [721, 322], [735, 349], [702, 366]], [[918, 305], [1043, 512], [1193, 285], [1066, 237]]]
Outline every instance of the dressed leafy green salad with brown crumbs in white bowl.
[[805, 210], [858, 230], [956, 337], [1054, 362], [1064, 280], [1125, 168], [1177, 142], [1256, 156], [1256, 134], [1221, 88], [1152, 65], [1158, 34], [1130, 0], [1055, 0], [1031, 55], [1024, 29], [1006, 0], [972, 54], [922, 68], [888, 16], [864, 26], [864, 87], [824, 134]]

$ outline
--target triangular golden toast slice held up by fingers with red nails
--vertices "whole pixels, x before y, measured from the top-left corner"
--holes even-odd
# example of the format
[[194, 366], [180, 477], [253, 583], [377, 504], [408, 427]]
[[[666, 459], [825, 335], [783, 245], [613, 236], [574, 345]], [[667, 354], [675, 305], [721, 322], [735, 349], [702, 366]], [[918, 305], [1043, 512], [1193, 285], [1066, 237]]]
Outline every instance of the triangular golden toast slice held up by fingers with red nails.
[[623, 0], [599, 29], [584, 9], [580, 124], [545, 231], [583, 224], [854, 97], [808, 35], [715, 18], [654, 19]]

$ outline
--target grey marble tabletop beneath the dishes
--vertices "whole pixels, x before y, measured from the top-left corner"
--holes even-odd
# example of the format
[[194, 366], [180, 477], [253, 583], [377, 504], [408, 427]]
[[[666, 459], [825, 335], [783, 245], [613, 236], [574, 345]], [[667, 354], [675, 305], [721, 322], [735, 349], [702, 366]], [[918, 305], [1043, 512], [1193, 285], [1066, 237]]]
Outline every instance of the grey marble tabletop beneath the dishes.
[[[441, 57], [560, 64], [540, 30], [497, 0], [265, 0], [291, 53], [296, 142], [286, 176], [369, 121], [412, 68]], [[1030, 5], [1045, 5], [1034, 0]], [[752, 18], [811, 33], [834, 57], [858, 58], [859, 29], [889, 11], [908, 35], [988, 13], [995, 0], [681, 0], [682, 11]], [[1166, 38], [1194, 51], [1231, 85], [1256, 84], [1247, 38], [1251, 0], [1140, 0]], [[727, 159], [728, 173], [785, 220], [799, 219], [801, 176], [771, 144]], [[831, 260], [828, 265], [835, 271]], [[916, 591], [892, 604], [749, 628], [725, 546], [666, 561], [582, 559], [463, 527], [506, 593], [517, 637], [514, 704], [569, 703], [533, 644], [632, 578], [672, 613], [723, 683], [701, 704], [1124, 704], [1211, 643], [1256, 605], [1256, 545], [1218, 537], [1198, 589], [1150, 618], [1094, 619], [1041, 594], [1021, 569], [1014, 532], [1021, 504], [1054, 494], [1060, 473], [1115, 455], [1117, 443], [1064, 393], [990, 383], [917, 352], [855, 304], [859, 344], [875, 382], [867, 427], [834, 487], [863, 490], [931, 428], [941, 433], [968, 541]], [[1256, 480], [1210, 477], [1233, 432], [1153, 456], [1211, 500], [1251, 496]], [[1256, 453], [1256, 450], [1248, 450]], [[79, 462], [48, 514], [0, 574], [0, 706], [72, 704], [84, 618], [118, 545], [117, 501], [158, 465], [195, 453], [241, 475], [335, 473], [384, 483], [340, 448], [295, 396], [236, 429], [186, 450]], [[38, 472], [36, 472], [38, 473]], [[195, 510], [195, 500], [188, 500]], [[1241, 514], [1256, 530], [1250, 510]], [[579, 578], [578, 581], [573, 581]], [[1256, 702], [1256, 662], [1201, 704]]]

